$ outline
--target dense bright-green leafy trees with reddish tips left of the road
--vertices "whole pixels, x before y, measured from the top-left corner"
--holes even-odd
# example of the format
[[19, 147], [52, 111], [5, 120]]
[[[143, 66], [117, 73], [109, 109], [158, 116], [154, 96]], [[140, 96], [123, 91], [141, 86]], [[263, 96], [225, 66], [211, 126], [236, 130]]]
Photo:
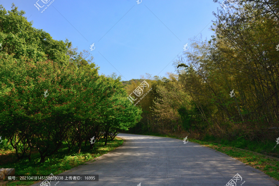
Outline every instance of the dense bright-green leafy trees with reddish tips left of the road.
[[140, 120], [120, 77], [99, 75], [89, 51], [52, 39], [23, 15], [0, 6], [0, 135], [9, 144], [1, 148], [12, 146], [18, 160], [38, 152], [43, 163], [63, 143], [80, 153], [92, 137], [98, 143], [104, 134], [106, 145], [109, 132], [113, 139]]

